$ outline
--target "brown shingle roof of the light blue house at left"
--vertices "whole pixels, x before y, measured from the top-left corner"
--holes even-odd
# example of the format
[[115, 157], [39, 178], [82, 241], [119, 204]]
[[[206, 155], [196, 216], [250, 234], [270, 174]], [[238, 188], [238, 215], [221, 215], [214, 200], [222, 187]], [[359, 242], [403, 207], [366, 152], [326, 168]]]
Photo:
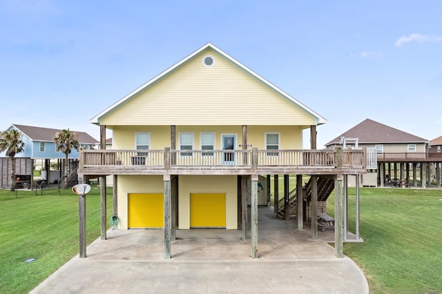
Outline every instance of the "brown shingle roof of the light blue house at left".
[[[40, 128], [37, 126], [23, 126], [21, 124], [12, 124], [10, 128], [17, 128], [21, 133], [29, 137], [32, 141], [54, 141], [55, 134], [59, 129], [56, 128]], [[78, 135], [78, 142], [80, 144], [97, 144], [98, 141], [91, 137], [88, 133], [78, 132], [73, 130]]]

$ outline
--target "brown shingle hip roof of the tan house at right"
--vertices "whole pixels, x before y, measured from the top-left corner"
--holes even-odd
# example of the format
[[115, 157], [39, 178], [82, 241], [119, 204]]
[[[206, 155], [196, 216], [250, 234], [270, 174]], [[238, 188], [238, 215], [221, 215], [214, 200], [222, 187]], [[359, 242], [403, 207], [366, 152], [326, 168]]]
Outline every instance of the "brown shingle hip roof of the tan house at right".
[[428, 143], [426, 139], [386, 126], [372, 119], [365, 119], [365, 121], [329, 141], [325, 146], [340, 144], [341, 137], [358, 138], [358, 144]]

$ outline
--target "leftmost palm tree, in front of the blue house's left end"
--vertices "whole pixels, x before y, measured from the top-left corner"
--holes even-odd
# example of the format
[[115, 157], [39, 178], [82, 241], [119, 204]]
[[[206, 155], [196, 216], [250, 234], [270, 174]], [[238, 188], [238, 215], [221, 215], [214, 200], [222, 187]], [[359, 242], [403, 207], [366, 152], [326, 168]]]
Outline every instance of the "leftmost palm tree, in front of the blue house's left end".
[[11, 158], [11, 192], [15, 190], [15, 155], [24, 150], [25, 144], [21, 141], [21, 132], [6, 130], [0, 132], [0, 152], [6, 150], [6, 156]]

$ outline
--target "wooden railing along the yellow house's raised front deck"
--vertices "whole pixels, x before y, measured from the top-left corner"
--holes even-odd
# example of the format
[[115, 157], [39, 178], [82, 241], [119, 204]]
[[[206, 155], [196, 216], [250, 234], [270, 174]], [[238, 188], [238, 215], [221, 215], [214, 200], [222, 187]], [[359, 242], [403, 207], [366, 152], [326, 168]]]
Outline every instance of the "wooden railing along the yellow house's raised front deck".
[[[337, 151], [339, 150], [339, 151]], [[325, 166], [365, 168], [363, 150], [80, 150], [80, 169], [98, 166], [137, 168], [265, 168]]]

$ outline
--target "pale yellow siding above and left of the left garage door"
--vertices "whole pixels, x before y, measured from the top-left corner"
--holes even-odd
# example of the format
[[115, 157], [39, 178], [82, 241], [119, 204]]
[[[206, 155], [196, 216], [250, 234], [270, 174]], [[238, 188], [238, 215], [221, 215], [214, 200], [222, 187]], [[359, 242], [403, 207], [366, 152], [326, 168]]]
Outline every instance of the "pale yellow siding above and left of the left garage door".
[[164, 193], [161, 175], [119, 175], [117, 184], [117, 206], [120, 228], [128, 228], [129, 193]]

